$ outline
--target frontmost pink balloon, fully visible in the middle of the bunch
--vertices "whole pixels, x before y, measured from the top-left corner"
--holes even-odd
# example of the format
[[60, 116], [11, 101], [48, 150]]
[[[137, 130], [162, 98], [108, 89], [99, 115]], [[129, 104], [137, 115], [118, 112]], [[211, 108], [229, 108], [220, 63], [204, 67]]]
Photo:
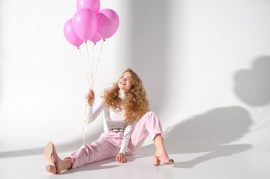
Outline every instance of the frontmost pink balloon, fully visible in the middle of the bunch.
[[77, 11], [72, 19], [75, 33], [82, 40], [90, 40], [97, 30], [97, 16], [92, 10], [82, 8]]

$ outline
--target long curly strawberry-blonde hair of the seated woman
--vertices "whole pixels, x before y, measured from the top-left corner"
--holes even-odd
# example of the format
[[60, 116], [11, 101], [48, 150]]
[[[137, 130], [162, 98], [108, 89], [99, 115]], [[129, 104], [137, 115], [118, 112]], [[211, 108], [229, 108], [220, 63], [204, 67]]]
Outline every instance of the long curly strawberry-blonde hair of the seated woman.
[[141, 117], [149, 111], [149, 107], [146, 98], [146, 90], [144, 89], [141, 79], [132, 69], [126, 69], [124, 73], [126, 72], [131, 74], [131, 89], [126, 93], [124, 105], [122, 105], [121, 98], [119, 98], [120, 88], [118, 87], [118, 81], [113, 83], [111, 88], [107, 88], [104, 91], [102, 98], [108, 108], [113, 110], [124, 109], [125, 120], [126, 122], [130, 122], [140, 120]]

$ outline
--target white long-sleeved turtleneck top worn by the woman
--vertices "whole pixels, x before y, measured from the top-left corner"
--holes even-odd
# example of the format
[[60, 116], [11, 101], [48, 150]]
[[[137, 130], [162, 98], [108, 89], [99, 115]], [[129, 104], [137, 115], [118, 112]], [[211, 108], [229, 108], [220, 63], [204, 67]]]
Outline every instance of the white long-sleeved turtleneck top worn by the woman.
[[[122, 100], [125, 98], [124, 94], [121, 93], [119, 93], [119, 97]], [[87, 119], [85, 120], [85, 123], [89, 124], [93, 122], [101, 112], [103, 112], [102, 118], [104, 132], [109, 132], [109, 129], [124, 129], [124, 135], [119, 153], [125, 154], [126, 147], [129, 144], [131, 137], [132, 129], [136, 125], [137, 121], [132, 121], [126, 124], [124, 118], [124, 110], [114, 111], [107, 107], [106, 103], [104, 103], [104, 100], [99, 100], [94, 108], [90, 105], [87, 105]]]

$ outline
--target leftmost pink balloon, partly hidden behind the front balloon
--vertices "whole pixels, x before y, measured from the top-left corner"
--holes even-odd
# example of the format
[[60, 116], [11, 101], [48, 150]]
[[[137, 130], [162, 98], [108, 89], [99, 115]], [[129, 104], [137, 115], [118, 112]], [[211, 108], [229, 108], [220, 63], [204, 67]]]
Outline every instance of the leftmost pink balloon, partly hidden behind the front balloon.
[[72, 27], [72, 18], [70, 18], [64, 25], [64, 35], [65, 39], [68, 40], [71, 45], [74, 45], [76, 47], [82, 45], [83, 40], [77, 36]]

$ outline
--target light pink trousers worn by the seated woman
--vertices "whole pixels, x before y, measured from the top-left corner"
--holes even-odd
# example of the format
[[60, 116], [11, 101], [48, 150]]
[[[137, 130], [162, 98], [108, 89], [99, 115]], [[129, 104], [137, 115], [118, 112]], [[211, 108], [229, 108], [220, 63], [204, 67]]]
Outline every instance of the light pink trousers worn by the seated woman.
[[[126, 148], [126, 155], [134, 153], [143, 144], [148, 134], [150, 134], [152, 140], [156, 137], [156, 134], [161, 134], [163, 137], [161, 122], [154, 112], [147, 112], [136, 123]], [[123, 132], [103, 132], [97, 141], [82, 145], [80, 149], [66, 158], [74, 158], [72, 168], [77, 168], [87, 163], [115, 157], [119, 153], [122, 138]]]

